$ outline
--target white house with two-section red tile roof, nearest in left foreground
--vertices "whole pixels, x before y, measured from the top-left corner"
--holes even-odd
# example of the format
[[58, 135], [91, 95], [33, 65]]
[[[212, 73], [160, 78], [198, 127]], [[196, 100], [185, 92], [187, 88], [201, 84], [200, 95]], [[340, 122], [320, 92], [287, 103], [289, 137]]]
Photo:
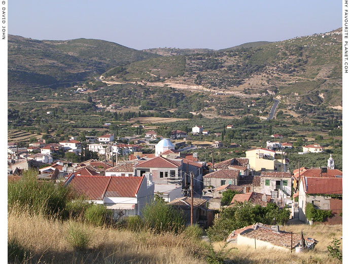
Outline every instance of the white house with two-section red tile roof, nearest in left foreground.
[[141, 177], [74, 176], [65, 184], [72, 186], [88, 202], [112, 209], [114, 216], [142, 215], [145, 206], [154, 200], [152, 175]]

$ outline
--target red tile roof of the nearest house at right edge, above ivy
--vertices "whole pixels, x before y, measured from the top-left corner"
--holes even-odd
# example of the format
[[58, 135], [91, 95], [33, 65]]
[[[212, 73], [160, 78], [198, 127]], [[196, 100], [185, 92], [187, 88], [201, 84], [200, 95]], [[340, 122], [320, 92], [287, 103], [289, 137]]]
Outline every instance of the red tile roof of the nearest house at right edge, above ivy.
[[342, 178], [302, 177], [305, 193], [309, 194], [342, 194]]

